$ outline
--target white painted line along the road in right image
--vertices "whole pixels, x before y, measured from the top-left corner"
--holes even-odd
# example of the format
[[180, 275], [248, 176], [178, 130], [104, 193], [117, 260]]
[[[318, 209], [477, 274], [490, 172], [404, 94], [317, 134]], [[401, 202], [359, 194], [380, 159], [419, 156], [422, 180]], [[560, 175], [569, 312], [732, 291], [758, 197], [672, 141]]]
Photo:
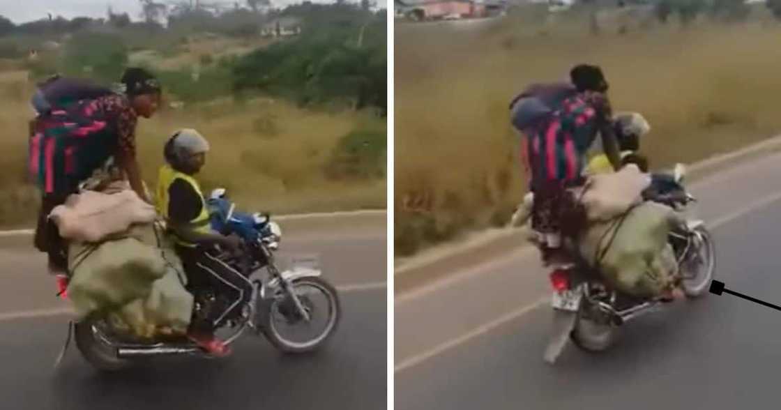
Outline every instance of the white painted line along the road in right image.
[[[750, 205], [746, 206], [743, 209], [737, 210], [735, 212], [731, 212], [726, 216], [722, 216], [721, 218], [716, 219], [713, 223], [708, 223], [707, 225], [711, 229], [719, 228], [720, 226], [724, 226], [727, 223], [739, 219], [741, 216], [745, 216], [751, 212], [762, 209], [779, 200], [781, 200], [781, 192], [776, 192], [775, 194], [771, 194], [761, 198], [759, 201], [752, 202]], [[483, 272], [484, 271], [485, 270], [483, 269]], [[476, 273], [470, 271], [470, 274], [474, 275]], [[465, 276], [461, 276], [461, 278], [463, 277]], [[452, 283], [452, 281], [448, 283]], [[441, 288], [441, 286], [439, 288]], [[437, 344], [437, 346], [434, 346], [433, 348], [423, 351], [418, 355], [413, 355], [412, 357], [405, 358], [398, 365], [394, 366], [394, 373], [400, 373], [406, 369], [410, 369], [415, 365], [419, 365], [423, 362], [426, 362], [426, 360], [429, 360], [430, 358], [433, 358], [437, 355], [441, 355], [442, 353], [450, 350], [451, 348], [455, 348], [458, 345], [465, 344], [466, 342], [474, 339], [475, 337], [488, 333], [490, 330], [494, 330], [498, 326], [501, 326], [505, 323], [512, 322], [515, 319], [519, 319], [520, 317], [525, 316], [529, 312], [532, 312], [535, 308], [539, 308], [543, 305], [546, 305], [549, 301], [550, 298], [547, 296], [544, 298], [540, 298], [539, 300], [537, 300], [531, 305], [526, 305], [521, 308], [517, 308], [514, 311], [508, 312], [497, 319], [491, 320], [488, 323], [484, 323], [483, 325], [477, 326], [475, 329], [470, 330], [467, 333], [463, 333], [461, 336]]]

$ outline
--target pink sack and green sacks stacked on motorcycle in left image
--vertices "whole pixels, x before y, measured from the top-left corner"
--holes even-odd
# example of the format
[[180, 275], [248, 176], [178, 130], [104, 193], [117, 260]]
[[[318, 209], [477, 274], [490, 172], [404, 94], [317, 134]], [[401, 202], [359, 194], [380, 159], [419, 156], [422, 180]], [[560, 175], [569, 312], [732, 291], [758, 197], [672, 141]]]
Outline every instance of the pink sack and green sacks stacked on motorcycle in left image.
[[193, 297], [181, 261], [154, 207], [127, 183], [73, 194], [50, 216], [70, 244], [68, 294], [79, 319], [105, 316], [134, 337], [186, 333]]

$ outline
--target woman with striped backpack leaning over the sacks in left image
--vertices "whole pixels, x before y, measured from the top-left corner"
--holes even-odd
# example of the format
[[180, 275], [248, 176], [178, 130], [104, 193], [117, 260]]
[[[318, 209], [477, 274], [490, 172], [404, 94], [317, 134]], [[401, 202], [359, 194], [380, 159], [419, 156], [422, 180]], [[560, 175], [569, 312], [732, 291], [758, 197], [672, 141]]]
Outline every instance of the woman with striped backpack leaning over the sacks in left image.
[[[155, 115], [162, 88], [141, 68], [129, 68], [119, 92], [57, 77], [34, 97], [38, 116], [31, 124], [30, 174], [41, 188], [34, 244], [48, 253], [48, 268], [64, 286], [67, 248], [48, 215], [98, 169], [112, 166], [144, 201], [147, 198], [136, 155], [138, 117]], [[61, 289], [62, 291], [62, 289]]]

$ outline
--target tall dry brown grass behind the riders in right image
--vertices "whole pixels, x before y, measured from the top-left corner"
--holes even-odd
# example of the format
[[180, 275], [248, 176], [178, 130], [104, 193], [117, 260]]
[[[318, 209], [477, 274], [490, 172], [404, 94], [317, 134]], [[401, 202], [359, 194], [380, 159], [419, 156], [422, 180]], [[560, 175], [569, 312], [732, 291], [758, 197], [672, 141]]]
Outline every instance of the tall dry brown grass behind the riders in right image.
[[653, 130], [643, 149], [654, 166], [727, 152], [781, 129], [775, 26], [600, 37], [583, 21], [404, 28], [397, 26], [395, 46], [398, 255], [506, 220], [525, 185], [508, 102], [526, 84], [565, 79], [576, 63], [604, 67], [614, 109], [647, 116]]

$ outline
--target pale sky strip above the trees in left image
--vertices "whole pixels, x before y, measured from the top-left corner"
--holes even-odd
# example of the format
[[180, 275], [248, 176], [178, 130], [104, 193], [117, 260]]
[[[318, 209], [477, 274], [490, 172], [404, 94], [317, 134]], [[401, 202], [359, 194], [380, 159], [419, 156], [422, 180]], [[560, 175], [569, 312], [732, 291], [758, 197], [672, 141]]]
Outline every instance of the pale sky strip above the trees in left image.
[[[246, 5], [245, 0], [203, 0], [206, 3], [225, 3]], [[300, 0], [272, 0], [279, 7]], [[312, 2], [332, 2], [330, 0], [312, 0]], [[387, 5], [387, 0], [376, 0], [380, 7]], [[11, 19], [14, 23], [25, 23], [47, 17], [47, 12], [53, 16], [63, 16], [72, 19], [77, 16], [105, 17], [106, 10], [111, 5], [115, 13], [127, 12], [130, 18], [138, 20], [141, 14], [141, 2], [138, 0], [0, 0], [0, 16]]]

